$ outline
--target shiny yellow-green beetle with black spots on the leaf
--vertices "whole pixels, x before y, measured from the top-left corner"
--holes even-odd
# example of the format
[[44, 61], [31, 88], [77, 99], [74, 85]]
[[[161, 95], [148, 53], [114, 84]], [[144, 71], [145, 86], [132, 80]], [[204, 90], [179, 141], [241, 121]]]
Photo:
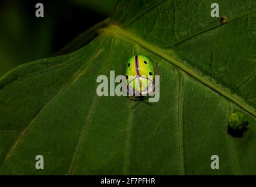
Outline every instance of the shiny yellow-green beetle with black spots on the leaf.
[[126, 63], [127, 92], [135, 96], [146, 96], [154, 92], [155, 64], [149, 58], [139, 55]]

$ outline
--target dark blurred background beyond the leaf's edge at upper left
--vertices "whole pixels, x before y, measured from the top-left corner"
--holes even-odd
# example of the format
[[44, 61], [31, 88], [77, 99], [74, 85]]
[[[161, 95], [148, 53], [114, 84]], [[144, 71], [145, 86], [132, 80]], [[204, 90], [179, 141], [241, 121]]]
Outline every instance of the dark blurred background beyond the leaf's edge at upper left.
[[[22, 63], [52, 56], [79, 33], [108, 18], [116, 1], [0, 1], [0, 77]], [[44, 5], [44, 18], [35, 16], [39, 2]]]

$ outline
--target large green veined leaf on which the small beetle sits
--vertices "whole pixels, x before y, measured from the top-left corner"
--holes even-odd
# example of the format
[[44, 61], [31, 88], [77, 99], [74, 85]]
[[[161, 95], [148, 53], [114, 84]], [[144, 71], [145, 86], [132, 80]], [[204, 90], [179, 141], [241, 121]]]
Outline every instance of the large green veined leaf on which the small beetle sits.
[[[2, 77], [0, 174], [256, 174], [256, 2], [216, 2], [224, 24], [212, 1], [120, 1], [87, 46]], [[96, 95], [135, 54], [157, 64], [160, 101]]]

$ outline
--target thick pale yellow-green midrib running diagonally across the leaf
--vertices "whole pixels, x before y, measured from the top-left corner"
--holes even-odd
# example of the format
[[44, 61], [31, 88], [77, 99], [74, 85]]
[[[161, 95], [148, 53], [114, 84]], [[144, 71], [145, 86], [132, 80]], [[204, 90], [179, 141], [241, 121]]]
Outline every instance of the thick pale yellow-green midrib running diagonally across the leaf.
[[[240, 18], [241, 18], [241, 16], [240, 16]], [[109, 25], [108, 27], [99, 30], [99, 32], [110, 34], [110, 35], [115, 34], [116, 36], [123, 37], [125, 39], [128, 39], [128, 40], [138, 44], [141, 47], [144, 47], [145, 49], [151, 51], [152, 53], [156, 54], [157, 56], [164, 58], [168, 63], [174, 64], [175, 66], [177, 66], [178, 68], [180, 68], [181, 70], [183, 70], [187, 74], [189, 74], [191, 77], [202, 82], [203, 84], [205, 84], [209, 88], [213, 89], [220, 95], [223, 95], [225, 98], [236, 103], [236, 105], [240, 106], [242, 109], [244, 109], [250, 115], [256, 117], [255, 109], [252, 108], [251, 106], [247, 105], [247, 103], [245, 103], [242, 99], [238, 98], [237, 96], [232, 95], [227, 89], [221, 88], [219, 85], [215, 84], [214, 82], [209, 81], [209, 79], [206, 79], [202, 75], [198, 74], [196, 71], [194, 71], [191, 68], [187, 67], [186, 65], [182, 64], [180, 61], [176, 60], [174, 57], [169, 56], [167, 53], [165, 53], [164, 50], [160, 49], [157, 46], [154, 46], [151, 43], [148, 43], [147, 41], [141, 39], [140, 37], [135, 36], [135, 34], [128, 32], [116, 25]]]

